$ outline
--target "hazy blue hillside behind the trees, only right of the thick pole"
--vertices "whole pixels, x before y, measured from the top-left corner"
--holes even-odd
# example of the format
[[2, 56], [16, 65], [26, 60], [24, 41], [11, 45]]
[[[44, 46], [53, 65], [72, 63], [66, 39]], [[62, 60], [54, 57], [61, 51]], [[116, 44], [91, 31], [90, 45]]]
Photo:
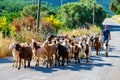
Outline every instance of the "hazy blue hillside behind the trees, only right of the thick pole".
[[[61, 1], [62, 1], [62, 4], [66, 4], [68, 2], [79, 2], [80, 0], [44, 0], [42, 2], [43, 3], [45, 3], [45, 2], [51, 3], [53, 6], [60, 6], [61, 5]], [[113, 13], [109, 9], [109, 5], [110, 5], [111, 1], [112, 0], [97, 0], [97, 2], [101, 6], [103, 6], [103, 8], [105, 9], [105, 11], [108, 14], [113, 15]]]

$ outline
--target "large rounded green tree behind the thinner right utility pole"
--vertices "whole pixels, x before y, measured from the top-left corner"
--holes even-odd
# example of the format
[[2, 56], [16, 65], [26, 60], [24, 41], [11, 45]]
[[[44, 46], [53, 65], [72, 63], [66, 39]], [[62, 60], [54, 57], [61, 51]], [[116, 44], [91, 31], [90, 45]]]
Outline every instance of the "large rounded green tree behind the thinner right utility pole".
[[93, 6], [93, 0], [81, 0], [79, 3], [65, 4], [61, 7], [58, 17], [69, 28], [77, 28], [85, 23], [92, 24], [93, 7], [95, 8], [95, 23], [100, 25], [106, 17], [106, 12], [96, 1], [95, 6]]

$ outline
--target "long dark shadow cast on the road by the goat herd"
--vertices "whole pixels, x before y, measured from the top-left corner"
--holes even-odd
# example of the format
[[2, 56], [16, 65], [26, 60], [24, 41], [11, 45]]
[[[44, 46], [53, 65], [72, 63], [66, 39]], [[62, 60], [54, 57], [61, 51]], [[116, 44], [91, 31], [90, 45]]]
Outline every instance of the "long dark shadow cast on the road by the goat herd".
[[112, 66], [110, 63], [106, 63], [101, 56], [91, 56], [90, 62], [86, 63], [85, 59], [81, 60], [80, 64], [75, 63], [69, 63], [69, 65], [65, 66], [53, 66], [50, 68], [44, 68], [44, 67], [30, 67], [30, 69], [33, 69], [35, 71], [41, 71], [43, 73], [52, 73], [59, 70], [71, 70], [71, 71], [81, 71], [81, 70], [92, 70], [93, 67], [104, 67], [104, 66]]

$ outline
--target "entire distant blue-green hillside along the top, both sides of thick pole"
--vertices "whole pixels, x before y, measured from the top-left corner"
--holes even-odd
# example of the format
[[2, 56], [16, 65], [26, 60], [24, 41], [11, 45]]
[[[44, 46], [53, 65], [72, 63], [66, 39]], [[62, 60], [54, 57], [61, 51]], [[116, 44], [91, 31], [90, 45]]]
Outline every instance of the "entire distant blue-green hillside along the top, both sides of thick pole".
[[[23, 3], [23, 4], [37, 4], [38, 0], [0, 0], [0, 1], [4, 1], [4, 2], [14, 2], [16, 1], [16, 3]], [[62, 4], [66, 4], [68, 2], [79, 2], [80, 0], [41, 0], [41, 2], [43, 4], [46, 4], [48, 8], [50, 7], [60, 7], [61, 6], [61, 1]], [[109, 5], [111, 3], [112, 0], [96, 0], [101, 6], [103, 6], [103, 8], [105, 9], [105, 11], [110, 14], [113, 15], [113, 13], [110, 11], [109, 9]]]

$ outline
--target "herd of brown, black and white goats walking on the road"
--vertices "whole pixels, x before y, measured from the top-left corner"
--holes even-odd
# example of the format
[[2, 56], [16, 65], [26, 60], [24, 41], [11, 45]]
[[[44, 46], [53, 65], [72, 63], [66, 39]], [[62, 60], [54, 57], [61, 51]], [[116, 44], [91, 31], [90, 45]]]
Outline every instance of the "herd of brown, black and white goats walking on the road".
[[[51, 35], [45, 42], [40, 43], [31, 40], [31, 43], [13, 42], [9, 49], [12, 51], [14, 64], [13, 66], [20, 69], [21, 64], [26, 68], [30, 67], [31, 60], [35, 61], [35, 66], [53, 65], [64, 66], [71, 61], [80, 63], [81, 58], [85, 57], [86, 62], [89, 62], [91, 48], [94, 48], [96, 55], [100, 54], [102, 44], [101, 36], [55, 36]], [[105, 53], [108, 53], [108, 48], [105, 45]]]

